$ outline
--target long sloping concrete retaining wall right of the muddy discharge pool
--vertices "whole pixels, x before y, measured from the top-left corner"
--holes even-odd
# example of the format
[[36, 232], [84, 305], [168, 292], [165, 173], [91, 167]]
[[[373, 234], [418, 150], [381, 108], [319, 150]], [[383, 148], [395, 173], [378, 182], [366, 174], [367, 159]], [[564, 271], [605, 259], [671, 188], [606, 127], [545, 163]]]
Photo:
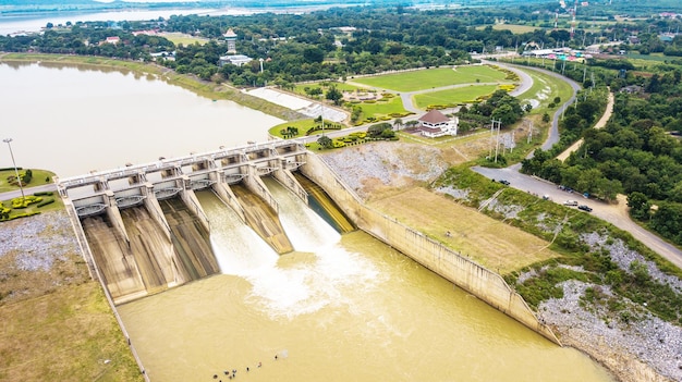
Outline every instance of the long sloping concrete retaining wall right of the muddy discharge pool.
[[524, 299], [496, 272], [395, 219], [365, 206], [318, 156], [309, 153], [301, 172], [320, 185], [361, 230], [394, 247], [549, 341], [561, 345], [552, 331], [538, 321]]

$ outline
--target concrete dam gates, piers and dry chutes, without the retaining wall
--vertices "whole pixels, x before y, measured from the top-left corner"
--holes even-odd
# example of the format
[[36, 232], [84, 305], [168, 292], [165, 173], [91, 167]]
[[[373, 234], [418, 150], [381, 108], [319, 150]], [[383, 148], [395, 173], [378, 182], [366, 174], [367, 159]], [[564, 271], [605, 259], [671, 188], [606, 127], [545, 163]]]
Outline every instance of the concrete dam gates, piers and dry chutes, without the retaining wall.
[[214, 193], [276, 252], [292, 251], [261, 176], [307, 201], [291, 173], [305, 152], [295, 143], [249, 145], [57, 183], [83, 227], [90, 271], [118, 305], [220, 272], [211, 223], [196, 196], [202, 190]]

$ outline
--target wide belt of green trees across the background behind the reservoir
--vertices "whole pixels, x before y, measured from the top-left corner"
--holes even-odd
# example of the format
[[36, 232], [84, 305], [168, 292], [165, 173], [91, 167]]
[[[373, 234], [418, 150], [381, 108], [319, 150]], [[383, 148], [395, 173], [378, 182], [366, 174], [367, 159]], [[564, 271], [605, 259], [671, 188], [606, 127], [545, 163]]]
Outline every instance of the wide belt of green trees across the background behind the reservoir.
[[[590, 4], [592, 7], [592, 4]], [[419, 10], [402, 5], [332, 8], [308, 14], [261, 13], [252, 16], [171, 16], [145, 22], [75, 22], [50, 27], [41, 35], [0, 36], [0, 50], [103, 56], [131, 60], [153, 60], [153, 53], [173, 54], [174, 61], [157, 60], [179, 73], [203, 79], [229, 81], [236, 86], [292, 83], [321, 78], [346, 78], [388, 70], [429, 67], [472, 61], [472, 52], [494, 51], [496, 47], [523, 48], [525, 41], [552, 47], [581, 47], [595, 42], [602, 32], [579, 28], [571, 38], [567, 29], [553, 29], [556, 7], [528, 4], [508, 9], [444, 8]], [[560, 10], [564, 12], [565, 10]], [[595, 8], [594, 16], [611, 10]], [[496, 21], [537, 26], [523, 34], [492, 28]], [[661, 41], [658, 33], [678, 27], [679, 21], [654, 19], [609, 28], [609, 37], [625, 39], [640, 32], [640, 42], [626, 49], [677, 52], [681, 39]], [[342, 29], [343, 26], [353, 29]], [[619, 25], [619, 24], [616, 24]], [[564, 27], [567, 25], [563, 25]], [[254, 58], [243, 66], [219, 65], [227, 47], [222, 35], [228, 28], [238, 34], [236, 50]], [[178, 45], [159, 35], [135, 30], [180, 32], [209, 38], [205, 45]], [[646, 30], [646, 34], [644, 33]], [[119, 37], [117, 44], [107, 37]], [[631, 42], [631, 41], [629, 41]], [[646, 49], [645, 49], [646, 46]], [[260, 71], [259, 59], [265, 60]], [[593, 62], [593, 66], [628, 69], [622, 62]], [[563, 63], [561, 64], [563, 65]], [[614, 66], [616, 65], [616, 66]], [[623, 66], [624, 65], [624, 66]], [[564, 67], [561, 67], [564, 72]], [[564, 73], [581, 77], [580, 71]], [[333, 94], [332, 94], [333, 95]]]

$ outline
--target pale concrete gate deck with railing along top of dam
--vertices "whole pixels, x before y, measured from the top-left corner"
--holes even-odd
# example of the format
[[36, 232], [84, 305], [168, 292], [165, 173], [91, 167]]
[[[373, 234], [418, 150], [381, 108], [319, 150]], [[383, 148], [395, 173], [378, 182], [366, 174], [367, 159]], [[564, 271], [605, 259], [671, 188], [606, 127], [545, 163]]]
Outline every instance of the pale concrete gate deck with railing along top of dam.
[[124, 169], [57, 178], [57, 187], [63, 198], [73, 200], [74, 206], [83, 213], [92, 214], [101, 212], [107, 206], [106, 202], [92, 198], [106, 193], [113, 194], [113, 201], [110, 202], [120, 202], [118, 207], [124, 208], [138, 204], [147, 195], [146, 187], [151, 187], [154, 196], [162, 199], [174, 196], [182, 189], [207, 188], [217, 182], [239, 183], [251, 174], [265, 176], [278, 170], [293, 171], [305, 164], [306, 158], [305, 146], [297, 141], [249, 144], [233, 149], [162, 158], [156, 162]]

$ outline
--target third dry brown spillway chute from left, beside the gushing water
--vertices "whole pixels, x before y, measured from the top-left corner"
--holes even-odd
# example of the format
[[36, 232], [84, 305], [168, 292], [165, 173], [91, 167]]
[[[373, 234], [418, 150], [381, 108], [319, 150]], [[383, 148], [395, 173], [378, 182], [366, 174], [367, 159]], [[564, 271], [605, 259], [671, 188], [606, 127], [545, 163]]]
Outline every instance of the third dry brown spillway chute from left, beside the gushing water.
[[159, 201], [171, 231], [181, 274], [197, 280], [219, 271], [208, 232], [180, 198]]

